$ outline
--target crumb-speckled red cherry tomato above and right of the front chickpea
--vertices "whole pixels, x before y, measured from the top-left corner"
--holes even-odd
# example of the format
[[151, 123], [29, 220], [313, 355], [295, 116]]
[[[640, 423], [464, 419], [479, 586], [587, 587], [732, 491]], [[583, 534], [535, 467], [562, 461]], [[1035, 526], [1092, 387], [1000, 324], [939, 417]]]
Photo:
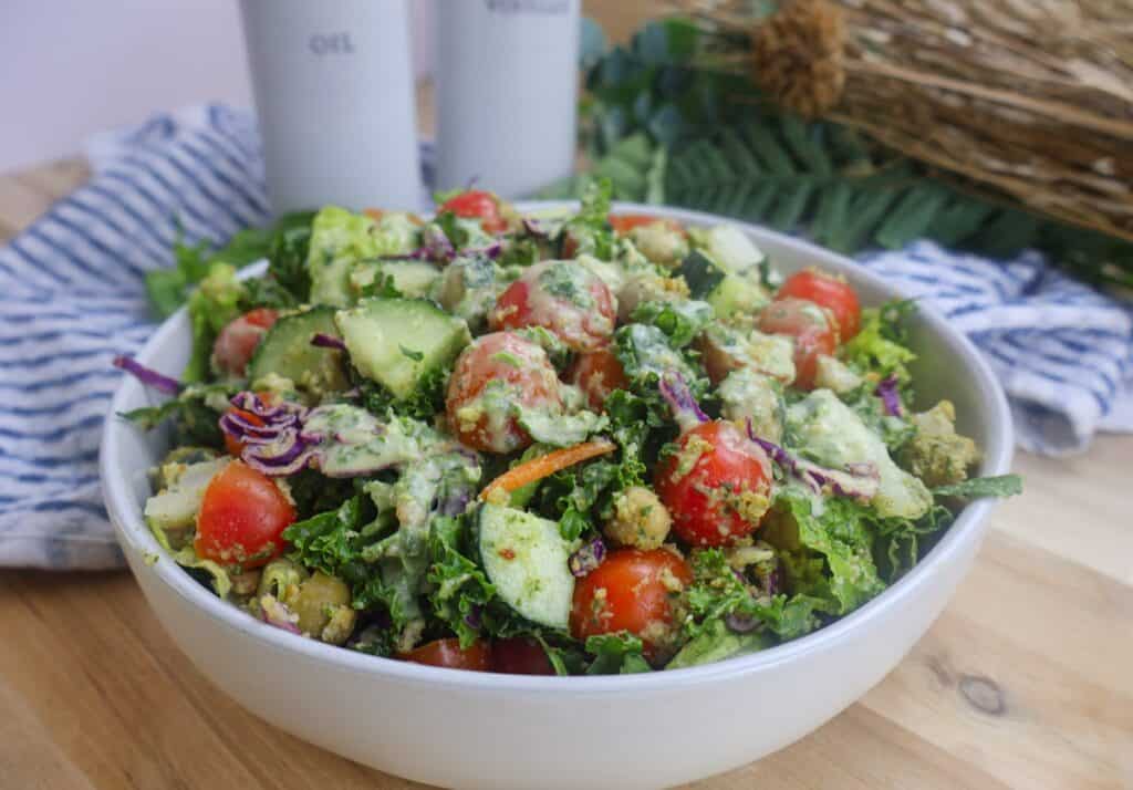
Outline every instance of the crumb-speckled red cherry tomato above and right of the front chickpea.
[[723, 546], [755, 532], [770, 495], [763, 449], [725, 421], [688, 431], [678, 448], [654, 481], [676, 536], [695, 546]]

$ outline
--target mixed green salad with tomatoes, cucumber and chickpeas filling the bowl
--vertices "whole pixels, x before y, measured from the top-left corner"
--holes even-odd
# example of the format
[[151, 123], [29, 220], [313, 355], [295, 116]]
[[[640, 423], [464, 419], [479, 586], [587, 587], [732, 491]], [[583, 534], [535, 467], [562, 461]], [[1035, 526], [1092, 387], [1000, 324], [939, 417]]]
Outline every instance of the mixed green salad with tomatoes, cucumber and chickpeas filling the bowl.
[[438, 204], [290, 218], [265, 275], [212, 264], [179, 381], [118, 360], [169, 396], [125, 415], [174, 436], [148, 528], [249, 617], [453, 669], [695, 666], [849, 614], [1019, 487], [914, 398], [912, 303], [602, 182]]

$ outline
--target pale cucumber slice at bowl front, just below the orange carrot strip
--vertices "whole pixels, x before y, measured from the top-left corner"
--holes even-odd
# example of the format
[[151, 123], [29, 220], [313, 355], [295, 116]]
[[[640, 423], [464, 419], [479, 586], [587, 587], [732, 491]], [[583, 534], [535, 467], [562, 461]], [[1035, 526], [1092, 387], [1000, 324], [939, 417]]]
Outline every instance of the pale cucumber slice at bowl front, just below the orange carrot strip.
[[559, 525], [495, 504], [482, 506], [478, 519], [480, 561], [500, 600], [531, 622], [565, 630], [574, 577]]

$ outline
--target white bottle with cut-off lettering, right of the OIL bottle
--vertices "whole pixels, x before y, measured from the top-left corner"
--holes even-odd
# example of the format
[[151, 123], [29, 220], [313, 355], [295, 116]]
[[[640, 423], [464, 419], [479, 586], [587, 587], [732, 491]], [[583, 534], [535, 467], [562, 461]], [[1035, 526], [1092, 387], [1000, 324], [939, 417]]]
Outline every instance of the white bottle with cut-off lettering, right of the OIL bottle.
[[437, 188], [514, 198], [571, 173], [579, 2], [437, 2]]

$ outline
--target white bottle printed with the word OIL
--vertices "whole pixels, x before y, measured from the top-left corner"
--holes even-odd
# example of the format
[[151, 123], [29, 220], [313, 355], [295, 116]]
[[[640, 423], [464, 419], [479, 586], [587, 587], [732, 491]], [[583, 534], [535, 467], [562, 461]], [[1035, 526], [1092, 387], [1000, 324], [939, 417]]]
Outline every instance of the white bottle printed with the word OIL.
[[240, 6], [272, 209], [420, 209], [406, 0]]

